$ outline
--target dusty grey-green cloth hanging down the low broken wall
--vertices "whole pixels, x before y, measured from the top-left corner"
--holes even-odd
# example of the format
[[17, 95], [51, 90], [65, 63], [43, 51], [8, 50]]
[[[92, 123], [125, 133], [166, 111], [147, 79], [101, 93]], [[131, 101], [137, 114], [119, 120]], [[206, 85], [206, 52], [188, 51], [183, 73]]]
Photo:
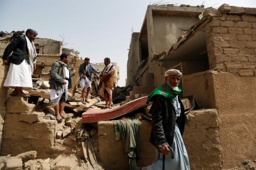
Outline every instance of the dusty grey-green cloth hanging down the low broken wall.
[[125, 142], [125, 153], [127, 154], [129, 170], [137, 170], [136, 160], [139, 159], [139, 126], [137, 119], [114, 120], [115, 138], [123, 139]]

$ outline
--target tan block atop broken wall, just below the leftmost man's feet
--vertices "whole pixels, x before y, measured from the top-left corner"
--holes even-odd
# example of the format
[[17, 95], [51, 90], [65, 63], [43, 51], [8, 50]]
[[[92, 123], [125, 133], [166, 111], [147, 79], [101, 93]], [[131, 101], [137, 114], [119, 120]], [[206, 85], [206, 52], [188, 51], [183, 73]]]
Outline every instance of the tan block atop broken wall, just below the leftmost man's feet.
[[7, 113], [30, 113], [35, 110], [34, 104], [28, 103], [28, 98], [11, 97], [6, 101]]

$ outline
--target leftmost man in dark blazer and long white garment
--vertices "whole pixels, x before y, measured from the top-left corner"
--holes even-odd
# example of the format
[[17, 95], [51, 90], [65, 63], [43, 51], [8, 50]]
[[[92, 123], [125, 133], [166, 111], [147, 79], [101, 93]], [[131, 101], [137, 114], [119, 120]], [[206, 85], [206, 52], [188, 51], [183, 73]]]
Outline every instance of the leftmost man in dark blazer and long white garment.
[[[37, 32], [28, 29], [25, 35], [17, 35], [13, 37], [12, 42], [6, 47], [3, 55], [3, 64], [10, 67], [4, 83], [5, 87], [15, 87], [11, 96], [28, 97], [23, 89], [32, 89], [33, 70], [36, 64], [36, 50], [33, 41], [37, 36]], [[12, 53], [13, 52], [13, 53]], [[9, 55], [12, 55], [9, 57]]]

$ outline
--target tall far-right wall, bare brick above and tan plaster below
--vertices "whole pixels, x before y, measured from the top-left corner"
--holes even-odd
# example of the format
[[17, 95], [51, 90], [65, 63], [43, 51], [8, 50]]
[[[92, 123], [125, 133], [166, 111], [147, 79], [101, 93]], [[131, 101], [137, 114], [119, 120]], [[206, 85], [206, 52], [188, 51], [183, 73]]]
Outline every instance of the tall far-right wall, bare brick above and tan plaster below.
[[[255, 8], [223, 5], [206, 25], [209, 67], [220, 118], [223, 168], [255, 159]], [[237, 14], [239, 13], [239, 14]]]

